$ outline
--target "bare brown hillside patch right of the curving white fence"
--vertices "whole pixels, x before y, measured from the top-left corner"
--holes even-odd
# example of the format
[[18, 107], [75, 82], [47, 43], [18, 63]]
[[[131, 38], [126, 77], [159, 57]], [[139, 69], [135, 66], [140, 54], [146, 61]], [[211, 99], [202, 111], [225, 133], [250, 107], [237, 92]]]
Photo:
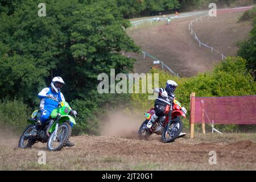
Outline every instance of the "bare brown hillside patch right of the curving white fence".
[[204, 18], [195, 25], [194, 30], [200, 39], [226, 56], [236, 56], [236, 43], [243, 40], [251, 31], [251, 22], [238, 23], [242, 13], [221, 14], [217, 18]]

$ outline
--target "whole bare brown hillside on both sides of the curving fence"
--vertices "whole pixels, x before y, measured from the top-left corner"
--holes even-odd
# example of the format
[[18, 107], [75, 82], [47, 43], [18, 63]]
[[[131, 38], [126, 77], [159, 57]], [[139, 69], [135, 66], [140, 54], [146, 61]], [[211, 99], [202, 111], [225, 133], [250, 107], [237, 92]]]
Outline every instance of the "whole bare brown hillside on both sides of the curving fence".
[[[250, 22], [237, 23], [242, 13], [221, 14], [217, 18], [204, 18], [202, 23], [194, 23], [197, 36], [209, 46], [224, 53], [236, 55], [234, 45], [243, 40], [251, 29]], [[213, 54], [207, 48], [199, 48], [199, 44], [189, 34], [188, 24], [199, 16], [172, 20], [170, 25], [158, 23], [158, 26], [145, 24], [137, 29], [127, 31], [143, 51], [162, 60], [174, 72], [185, 77], [195, 76], [198, 72], [209, 71], [214, 63], [221, 60], [220, 55]], [[146, 73], [155, 65], [150, 58], [131, 55], [137, 59], [134, 72]]]

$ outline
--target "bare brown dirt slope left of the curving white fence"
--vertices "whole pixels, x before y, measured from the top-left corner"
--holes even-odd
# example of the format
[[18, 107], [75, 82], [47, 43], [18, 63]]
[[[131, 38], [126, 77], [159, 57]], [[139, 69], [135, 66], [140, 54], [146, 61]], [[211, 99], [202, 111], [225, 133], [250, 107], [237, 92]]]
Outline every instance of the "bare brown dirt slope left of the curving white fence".
[[[194, 76], [212, 68], [214, 57], [197, 48], [188, 32], [191, 18], [173, 20], [170, 25], [150, 27], [147, 30], [134, 30], [130, 36], [143, 51], [156, 56], [181, 76]], [[153, 46], [154, 45], [154, 46]], [[146, 62], [146, 65], [145, 63]], [[134, 65], [135, 72], [147, 72], [152, 60], [139, 59]]]

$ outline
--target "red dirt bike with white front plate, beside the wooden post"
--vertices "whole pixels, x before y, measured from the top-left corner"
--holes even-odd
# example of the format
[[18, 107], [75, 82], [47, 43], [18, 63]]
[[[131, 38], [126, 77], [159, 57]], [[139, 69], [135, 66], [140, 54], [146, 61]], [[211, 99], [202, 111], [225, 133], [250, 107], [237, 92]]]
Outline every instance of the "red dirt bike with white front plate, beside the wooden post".
[[[156, 119], [153, 123], [152, 127], [148, 129], [147, 123], [150, 121], [150, 118], [153, 114], [155, 114], [154, 108], [151, 108], [149, 111], [145, 113], [146, 120], [142, 123], [141, 127], [139, 128], [139, 138], [141, 139], [148, 139], [151, 134], [162, 134], [163, 142], [173, 142], [176, 138], [179, 137], [183, 123], [180, 117], [186, 118], [187, 110], [184, 107], [181, 107], [179, 101], [174, 99], [172, 103], [172, 110], [170, 106], [166, 107], [164, 119], [160, 122], [160, 119]], [[171, 118], [171, 119], [169, 119]]]

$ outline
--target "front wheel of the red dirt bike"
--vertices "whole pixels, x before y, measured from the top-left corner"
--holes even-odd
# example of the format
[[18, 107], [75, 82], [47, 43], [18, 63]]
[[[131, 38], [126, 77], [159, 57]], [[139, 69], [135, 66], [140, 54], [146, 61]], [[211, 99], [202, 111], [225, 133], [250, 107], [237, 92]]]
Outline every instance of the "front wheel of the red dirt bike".
[[174, 142], [176, 138], [179, 137], [182, 131], [183, 123], [179, 117], [172, 120], [170, 126], [166, 125], [162, 133], [162, 140], [164, 143]]

